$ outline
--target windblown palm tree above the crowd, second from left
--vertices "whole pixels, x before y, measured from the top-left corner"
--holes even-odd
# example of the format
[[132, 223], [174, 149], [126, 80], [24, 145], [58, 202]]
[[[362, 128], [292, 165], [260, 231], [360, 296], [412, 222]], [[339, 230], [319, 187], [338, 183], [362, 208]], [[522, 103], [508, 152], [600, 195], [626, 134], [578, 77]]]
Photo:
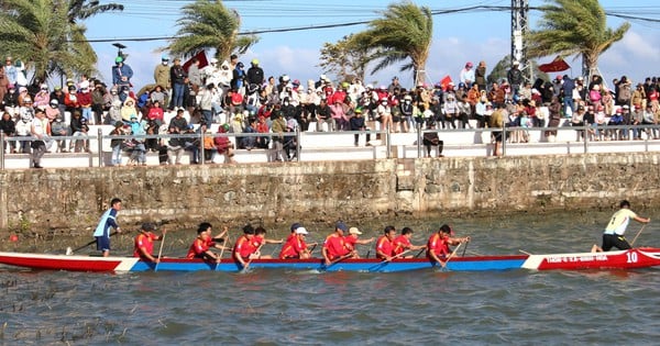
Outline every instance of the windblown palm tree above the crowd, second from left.
[[177, 21], [177, 37], [164, 49], [190, 56], [200, 49], [216, 48], [218, 59], [227, 59], [237, 49], [245, 53], [258, 41], [254, 35], [239, 36], [241, 16], [220, 0], [197, 0], [183, 8]]

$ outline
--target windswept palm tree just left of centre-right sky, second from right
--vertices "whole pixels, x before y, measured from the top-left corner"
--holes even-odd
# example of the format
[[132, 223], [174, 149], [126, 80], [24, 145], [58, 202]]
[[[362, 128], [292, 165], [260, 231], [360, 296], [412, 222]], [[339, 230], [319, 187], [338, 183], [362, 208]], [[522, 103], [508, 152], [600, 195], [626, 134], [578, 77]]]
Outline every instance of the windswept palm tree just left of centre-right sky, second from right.
[[372, 74], [395, 63], [410, 59], [402, 71], [413, 69], [415, 83], [426, 80], [426, 62], [433, 36], [431, 10], [411, 1], [393, 3], [383, 18], [369, 23], [369, 29], [355, 34], [359, 45], [373, 49], [371, 62], [378, 60]]

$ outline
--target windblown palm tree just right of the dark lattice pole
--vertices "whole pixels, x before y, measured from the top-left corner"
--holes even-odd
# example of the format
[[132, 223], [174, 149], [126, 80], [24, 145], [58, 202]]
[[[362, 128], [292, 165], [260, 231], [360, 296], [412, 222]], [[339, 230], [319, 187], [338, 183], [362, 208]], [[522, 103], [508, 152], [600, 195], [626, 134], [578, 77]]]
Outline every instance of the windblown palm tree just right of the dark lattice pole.
[[598, 0], [549, 0], [552, 4], [541, 7], [543, 15], [540, 30], [528, 37], [528, 55], [581, 55], [583, 75], [597, 74], [598, 57], [612, 44], [622, 40], [630, 23], [616, 30], [607, 27], [605, 10]]

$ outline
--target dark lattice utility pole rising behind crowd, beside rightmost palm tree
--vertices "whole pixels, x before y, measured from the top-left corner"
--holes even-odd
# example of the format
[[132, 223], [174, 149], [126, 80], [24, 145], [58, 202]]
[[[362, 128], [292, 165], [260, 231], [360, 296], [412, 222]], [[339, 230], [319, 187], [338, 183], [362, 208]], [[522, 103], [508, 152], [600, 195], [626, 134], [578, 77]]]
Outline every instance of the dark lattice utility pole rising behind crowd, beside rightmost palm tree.
[[520, 63], [522, 76], [531, 81], [531, 64], [527, 60], [527, 44], [525, 35], [529, 31], [527, 13], [529, 0], [512, 0], [512, 65], [515, 60]]

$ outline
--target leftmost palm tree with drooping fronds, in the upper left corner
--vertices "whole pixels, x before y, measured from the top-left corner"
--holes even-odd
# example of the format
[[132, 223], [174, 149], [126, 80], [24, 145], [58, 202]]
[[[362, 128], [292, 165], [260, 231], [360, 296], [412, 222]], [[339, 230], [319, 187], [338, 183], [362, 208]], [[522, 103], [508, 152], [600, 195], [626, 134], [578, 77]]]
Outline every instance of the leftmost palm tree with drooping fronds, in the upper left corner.
[[76, 20], [117, 9], [86, 0], [3, 0], [0, 42], [41, 80], [54, 72], [89, 75], [97, 56]]

